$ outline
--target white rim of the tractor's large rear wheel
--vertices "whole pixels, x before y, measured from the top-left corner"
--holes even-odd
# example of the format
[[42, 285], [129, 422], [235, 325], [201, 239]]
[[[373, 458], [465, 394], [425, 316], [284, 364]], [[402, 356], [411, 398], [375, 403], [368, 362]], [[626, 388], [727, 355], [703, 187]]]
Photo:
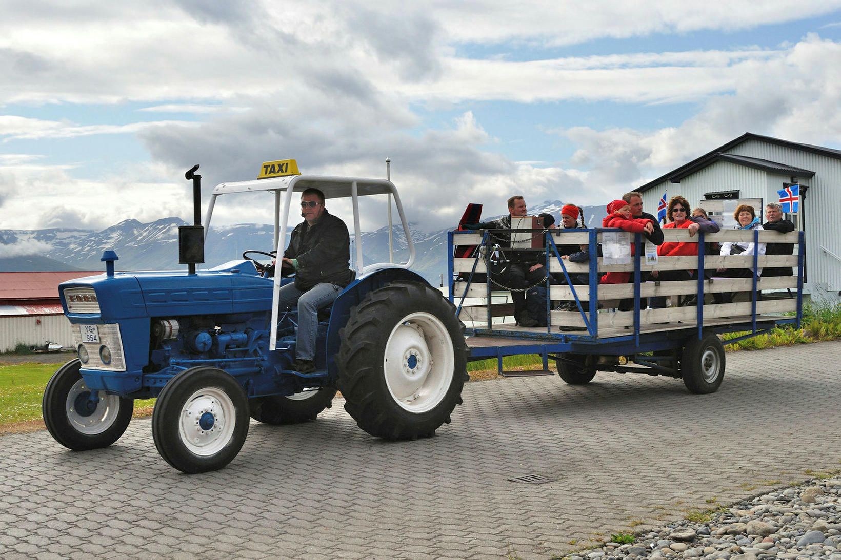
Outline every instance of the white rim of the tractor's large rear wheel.
[[435, 315], [406, 315], [385, 343], [383, 372], [394, 402], [420, 414], [434, 409], [452, 384], [455, 351]]

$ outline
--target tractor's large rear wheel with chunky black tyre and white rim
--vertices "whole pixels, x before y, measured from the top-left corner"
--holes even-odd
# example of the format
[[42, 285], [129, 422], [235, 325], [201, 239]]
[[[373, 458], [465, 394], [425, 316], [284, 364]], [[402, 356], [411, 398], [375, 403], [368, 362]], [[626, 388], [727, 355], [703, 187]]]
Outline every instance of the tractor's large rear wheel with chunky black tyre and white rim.
[[387, 440], [434, 436], [462, 403], [467, 345], [455, 308], [419, 282], [374, 290], [341, 330], [338, 385], [362, 430]]

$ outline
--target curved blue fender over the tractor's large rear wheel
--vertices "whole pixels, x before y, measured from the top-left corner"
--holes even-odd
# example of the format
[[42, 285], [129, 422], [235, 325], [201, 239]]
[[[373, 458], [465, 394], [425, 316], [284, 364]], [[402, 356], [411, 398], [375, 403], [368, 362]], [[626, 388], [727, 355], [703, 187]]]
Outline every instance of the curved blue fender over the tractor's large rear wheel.
[[395, 280], [407, 280], [420, 282], [431, 286], [417, 272], [405, 268], [382, 268], [380, 270], [358, 277], [348, 284], [333, 302], [333, 310], [330, 314], [330, 324], [327, 326], [327, 374], [334, 383], [339, 378], [339, 369], [336, 366], [336, 356], [339, 353], [339, 331], [347, 324], [351, 317], [351, 309], [356, 307], [368, 293], [382, 288]]

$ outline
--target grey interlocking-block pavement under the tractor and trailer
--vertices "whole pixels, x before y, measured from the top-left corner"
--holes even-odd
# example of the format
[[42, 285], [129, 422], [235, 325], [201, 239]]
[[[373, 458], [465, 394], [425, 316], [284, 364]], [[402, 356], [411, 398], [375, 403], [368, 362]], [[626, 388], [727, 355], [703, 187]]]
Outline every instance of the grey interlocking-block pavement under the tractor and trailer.
[[[469, 383], [421, 441], [376, 440], [336, 400], [252, 423], [199, 475], [158, 456], [150, 420], [95, 452], [3, 436], [0, 557], [550, 558], [841, 467], [841, 342], [727, 362], [710, 395], [606, 373]], [[553, 481], [508, 481], [528, 474]]]

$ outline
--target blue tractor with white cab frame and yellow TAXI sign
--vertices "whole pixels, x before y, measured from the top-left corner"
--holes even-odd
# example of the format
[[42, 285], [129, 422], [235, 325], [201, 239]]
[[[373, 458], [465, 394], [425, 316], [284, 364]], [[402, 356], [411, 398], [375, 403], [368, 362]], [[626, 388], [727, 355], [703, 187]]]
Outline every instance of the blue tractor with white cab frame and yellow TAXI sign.
[[[394, 198], [409, 231], [394, 184], [305, 176], [294, 160], [267, 162], [257, 180], [216, 186], [203, 226], [197, 169], [187, 172], [195, 224], [182, 226], [178, 239], [187, 271], [115, 272], [118, 257], [105, 251], [105, 273], [59, 287], [78, 357], [45, 388], [44, 420], [56, 441], [76, 451], [110, 446], [129, 425], [134, 399], [151, 397], [157, 450], [184, 473], [225, 467], [246, 440], [249, 417], [269, 425], [315, 420], [336, 390], [372, 436], [414, 440], [449, 423], [468, 379], [454, 307], [410, 270], [411, 235], [407, 262], [362, 262], [360, 198], [388, 197], [389, 240]], [[283, 252], [294, 193], [306, 188], [350, 199], [356, 253], [354, 281], [320, 311], [311, 373], [291, 368], [297, 310], [277, 305], [280, 286], [292, 278], [258, 260]], [[241, 260], [197, 271], [214, 203], [234, 193], [273, 195], [273, 246], [265, 247], [273, 251], [245, 251]]]

